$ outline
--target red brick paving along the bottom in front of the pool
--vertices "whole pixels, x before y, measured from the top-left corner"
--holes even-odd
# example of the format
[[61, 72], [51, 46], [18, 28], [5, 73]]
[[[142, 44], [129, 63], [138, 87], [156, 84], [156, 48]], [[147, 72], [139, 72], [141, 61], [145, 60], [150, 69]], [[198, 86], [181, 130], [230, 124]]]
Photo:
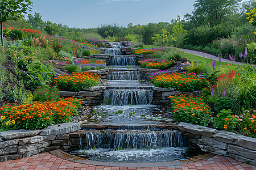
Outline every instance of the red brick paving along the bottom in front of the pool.
[[151, 168], [126, 168], [126, 167], [104, 167], [88, 164], [80, 164], [70, 162], [61, 158], [57, 158], [54, 155], [47, 153], [33, 155], [29, 158], [22, 158], [0, 163], [0, 170], [23, 170], [23, 169], [35, 169], [35, 170], [64, 170], [64, 169], [77, 169], [77, 170], [187, 170], [187, 169], [205, 169], [205, 170], [217, 170], [217, 169], [253, 169], [256, 167], [237, 162], [234, 159], [226, 158], [224, 156], [214, 156], [208, 160], [203, 160], [195, 163], [188, 163], [176, 166], [174, 168], [167, 167], [151, 167]]

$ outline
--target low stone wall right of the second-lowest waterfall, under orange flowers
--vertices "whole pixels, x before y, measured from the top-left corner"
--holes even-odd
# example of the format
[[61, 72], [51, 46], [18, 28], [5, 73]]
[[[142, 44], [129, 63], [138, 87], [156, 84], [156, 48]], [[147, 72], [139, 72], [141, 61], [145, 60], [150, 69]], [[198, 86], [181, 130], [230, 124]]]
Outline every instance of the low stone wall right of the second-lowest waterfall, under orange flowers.
[[188, 96], [200, 96], [200, 94], [203, 91], [193, 91], [193, 92], [181, 92], [181, 91], [175, 91], [174, 88], [160, 88], [153, 86], [154, 90], [154, 104], [156, 105], [167, 105], [170, 104], [171, 99], [169, 99], [169, 96], [175, 96], [175, 95], [181, 95], [186, 94]]

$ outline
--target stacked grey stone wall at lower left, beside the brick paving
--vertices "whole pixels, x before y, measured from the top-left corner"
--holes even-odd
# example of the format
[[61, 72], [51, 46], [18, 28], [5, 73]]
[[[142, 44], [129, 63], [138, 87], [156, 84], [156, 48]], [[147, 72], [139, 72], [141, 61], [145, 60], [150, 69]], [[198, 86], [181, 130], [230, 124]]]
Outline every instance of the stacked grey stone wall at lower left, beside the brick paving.
[[44, 130], [10, 130], [0, 133], [0, 162], [19, 159], [72, 145], [69, 133], [82, 124], [52, 125]]

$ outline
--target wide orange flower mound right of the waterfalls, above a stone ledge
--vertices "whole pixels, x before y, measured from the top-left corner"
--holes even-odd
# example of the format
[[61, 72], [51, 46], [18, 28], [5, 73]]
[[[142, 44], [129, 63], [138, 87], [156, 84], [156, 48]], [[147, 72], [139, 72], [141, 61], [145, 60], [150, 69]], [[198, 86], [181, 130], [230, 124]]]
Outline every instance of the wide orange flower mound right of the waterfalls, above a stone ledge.
[[156, 87], [175, 88], [177, 91], [197, 91], [207, 87], [208, 80], [191, 73], [160, 74], [150, 79]]

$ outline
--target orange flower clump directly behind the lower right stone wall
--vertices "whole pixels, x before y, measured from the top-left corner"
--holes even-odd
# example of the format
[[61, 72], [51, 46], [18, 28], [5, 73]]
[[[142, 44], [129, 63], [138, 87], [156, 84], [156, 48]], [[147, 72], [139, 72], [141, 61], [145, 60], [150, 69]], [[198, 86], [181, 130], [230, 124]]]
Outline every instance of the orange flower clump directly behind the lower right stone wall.
[[192, 96], [170, 96], [172, 98], [172, 109], [175, 121], [187, 122], [200, 126], [207, 126], [212, 117], [210, 107], [203, 103], [200, 97]]

